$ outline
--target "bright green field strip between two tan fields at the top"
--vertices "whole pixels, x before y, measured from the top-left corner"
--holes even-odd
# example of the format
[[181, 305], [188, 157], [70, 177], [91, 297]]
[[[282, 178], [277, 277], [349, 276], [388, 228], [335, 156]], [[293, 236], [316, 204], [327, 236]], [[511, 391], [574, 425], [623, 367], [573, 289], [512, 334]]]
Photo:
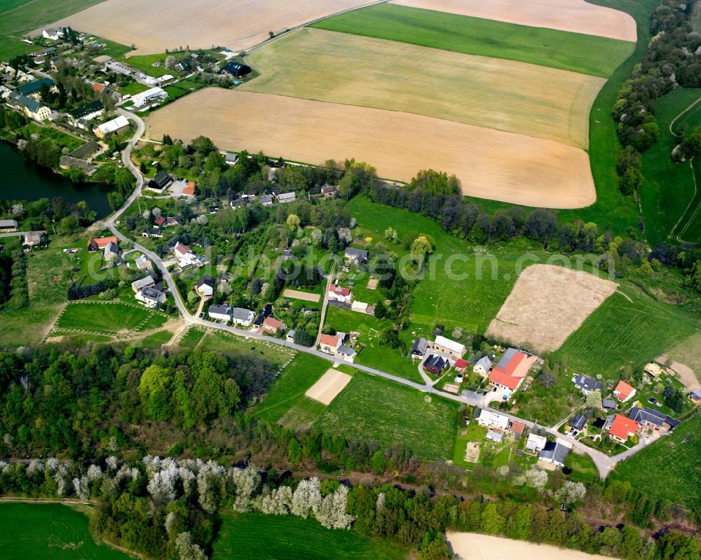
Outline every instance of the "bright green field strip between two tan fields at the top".
[[628, 41], [466, 15], [378, 4], [311, 27], [456, 53], [505, 58], [608, 78], [633, 52]]

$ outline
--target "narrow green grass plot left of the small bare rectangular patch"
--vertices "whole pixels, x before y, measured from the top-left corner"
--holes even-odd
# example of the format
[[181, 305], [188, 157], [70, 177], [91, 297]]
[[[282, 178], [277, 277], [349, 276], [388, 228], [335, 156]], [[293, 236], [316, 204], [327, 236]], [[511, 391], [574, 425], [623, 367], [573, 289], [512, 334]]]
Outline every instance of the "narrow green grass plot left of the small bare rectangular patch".
[[[307, 400], [304, 393], [329, 369], [330, 364], [323, 358], [298, 353], [280, 371], [268, 393], [257, 404], [251, 416], [268, 422], [277, 422], [292, 408], [304, 408]], [[320, 404], [320, 403], [318, 403]], [[321, 407], [324, 405], [321, 404]]]

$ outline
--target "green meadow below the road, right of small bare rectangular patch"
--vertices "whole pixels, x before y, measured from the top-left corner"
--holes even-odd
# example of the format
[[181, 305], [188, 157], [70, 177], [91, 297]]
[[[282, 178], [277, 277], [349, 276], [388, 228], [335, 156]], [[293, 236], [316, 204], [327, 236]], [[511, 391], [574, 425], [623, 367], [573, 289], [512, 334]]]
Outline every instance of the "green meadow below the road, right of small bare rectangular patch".
[[[430, 400], [430, 402], [428, 402]], [[450, 458], [458, 403], [358, 372], [317, 421], [322, 432], [403, 444], [423, 458]]]

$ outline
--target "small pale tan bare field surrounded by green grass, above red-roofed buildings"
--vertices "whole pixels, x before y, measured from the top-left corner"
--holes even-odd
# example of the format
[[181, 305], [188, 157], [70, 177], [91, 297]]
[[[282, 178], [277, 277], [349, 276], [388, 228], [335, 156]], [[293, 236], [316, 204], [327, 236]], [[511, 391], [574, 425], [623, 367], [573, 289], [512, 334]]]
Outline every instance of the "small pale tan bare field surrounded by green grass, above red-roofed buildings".
[[587, 272], [533, 264], [521, 273], [486, 332], [498, 340], [552, 352], [617, 286]]

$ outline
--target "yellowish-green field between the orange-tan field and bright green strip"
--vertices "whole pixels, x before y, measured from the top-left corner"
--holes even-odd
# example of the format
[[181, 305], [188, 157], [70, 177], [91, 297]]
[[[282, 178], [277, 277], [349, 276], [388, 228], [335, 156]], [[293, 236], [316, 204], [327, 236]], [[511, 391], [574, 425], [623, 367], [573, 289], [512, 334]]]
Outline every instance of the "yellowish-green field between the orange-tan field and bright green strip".
[[243, 90], [433, 116], [585, 149], [590, 109], [606, 82], [322, 29], [299, 29], [246, 60], [261, 76]]

